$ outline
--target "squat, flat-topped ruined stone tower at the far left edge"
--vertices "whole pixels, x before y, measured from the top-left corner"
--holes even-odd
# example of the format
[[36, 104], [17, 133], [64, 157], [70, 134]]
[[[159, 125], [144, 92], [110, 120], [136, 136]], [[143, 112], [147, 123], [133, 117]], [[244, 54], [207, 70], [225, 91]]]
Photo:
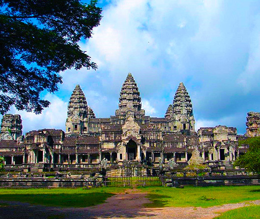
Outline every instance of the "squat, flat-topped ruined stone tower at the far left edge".
[[5, 114], [1, 121], [1, 140], [17, 140], [22, 136], [20, 115]]

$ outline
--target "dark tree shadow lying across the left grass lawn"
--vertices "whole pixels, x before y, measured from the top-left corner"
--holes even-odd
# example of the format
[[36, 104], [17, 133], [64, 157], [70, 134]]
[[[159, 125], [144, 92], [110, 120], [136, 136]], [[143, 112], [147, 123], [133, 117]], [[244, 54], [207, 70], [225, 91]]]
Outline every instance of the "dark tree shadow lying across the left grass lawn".
[[112, 193], [87, 194], [8, 194], [1, 195], [2, 201], [17, 201], [32, 205], [53, 206], [62, 208], [83, 208], [104, 203], [113, 196]]

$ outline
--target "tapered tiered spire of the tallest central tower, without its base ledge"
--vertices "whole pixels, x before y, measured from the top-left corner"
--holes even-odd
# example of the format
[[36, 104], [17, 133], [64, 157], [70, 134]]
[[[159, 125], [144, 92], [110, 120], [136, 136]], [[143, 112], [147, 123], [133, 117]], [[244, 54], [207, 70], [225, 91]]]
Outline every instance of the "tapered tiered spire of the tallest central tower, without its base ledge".
[[120, 111], [126, 111], [129, 105], [134, 111], [141, 110], [140, 93], [131, 73], [128, 73], [122, 85], [118, 108]]

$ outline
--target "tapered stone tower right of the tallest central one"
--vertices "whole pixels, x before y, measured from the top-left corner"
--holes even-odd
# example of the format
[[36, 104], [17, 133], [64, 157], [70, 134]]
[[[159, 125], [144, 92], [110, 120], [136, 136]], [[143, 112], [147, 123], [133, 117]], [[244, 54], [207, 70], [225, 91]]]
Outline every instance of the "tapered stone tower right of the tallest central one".
[[195, 120], [193, 117], [192, 104], [188, 92], [182, 82], [179, 83], [172, 103], [175, 129], [195, 131]]

